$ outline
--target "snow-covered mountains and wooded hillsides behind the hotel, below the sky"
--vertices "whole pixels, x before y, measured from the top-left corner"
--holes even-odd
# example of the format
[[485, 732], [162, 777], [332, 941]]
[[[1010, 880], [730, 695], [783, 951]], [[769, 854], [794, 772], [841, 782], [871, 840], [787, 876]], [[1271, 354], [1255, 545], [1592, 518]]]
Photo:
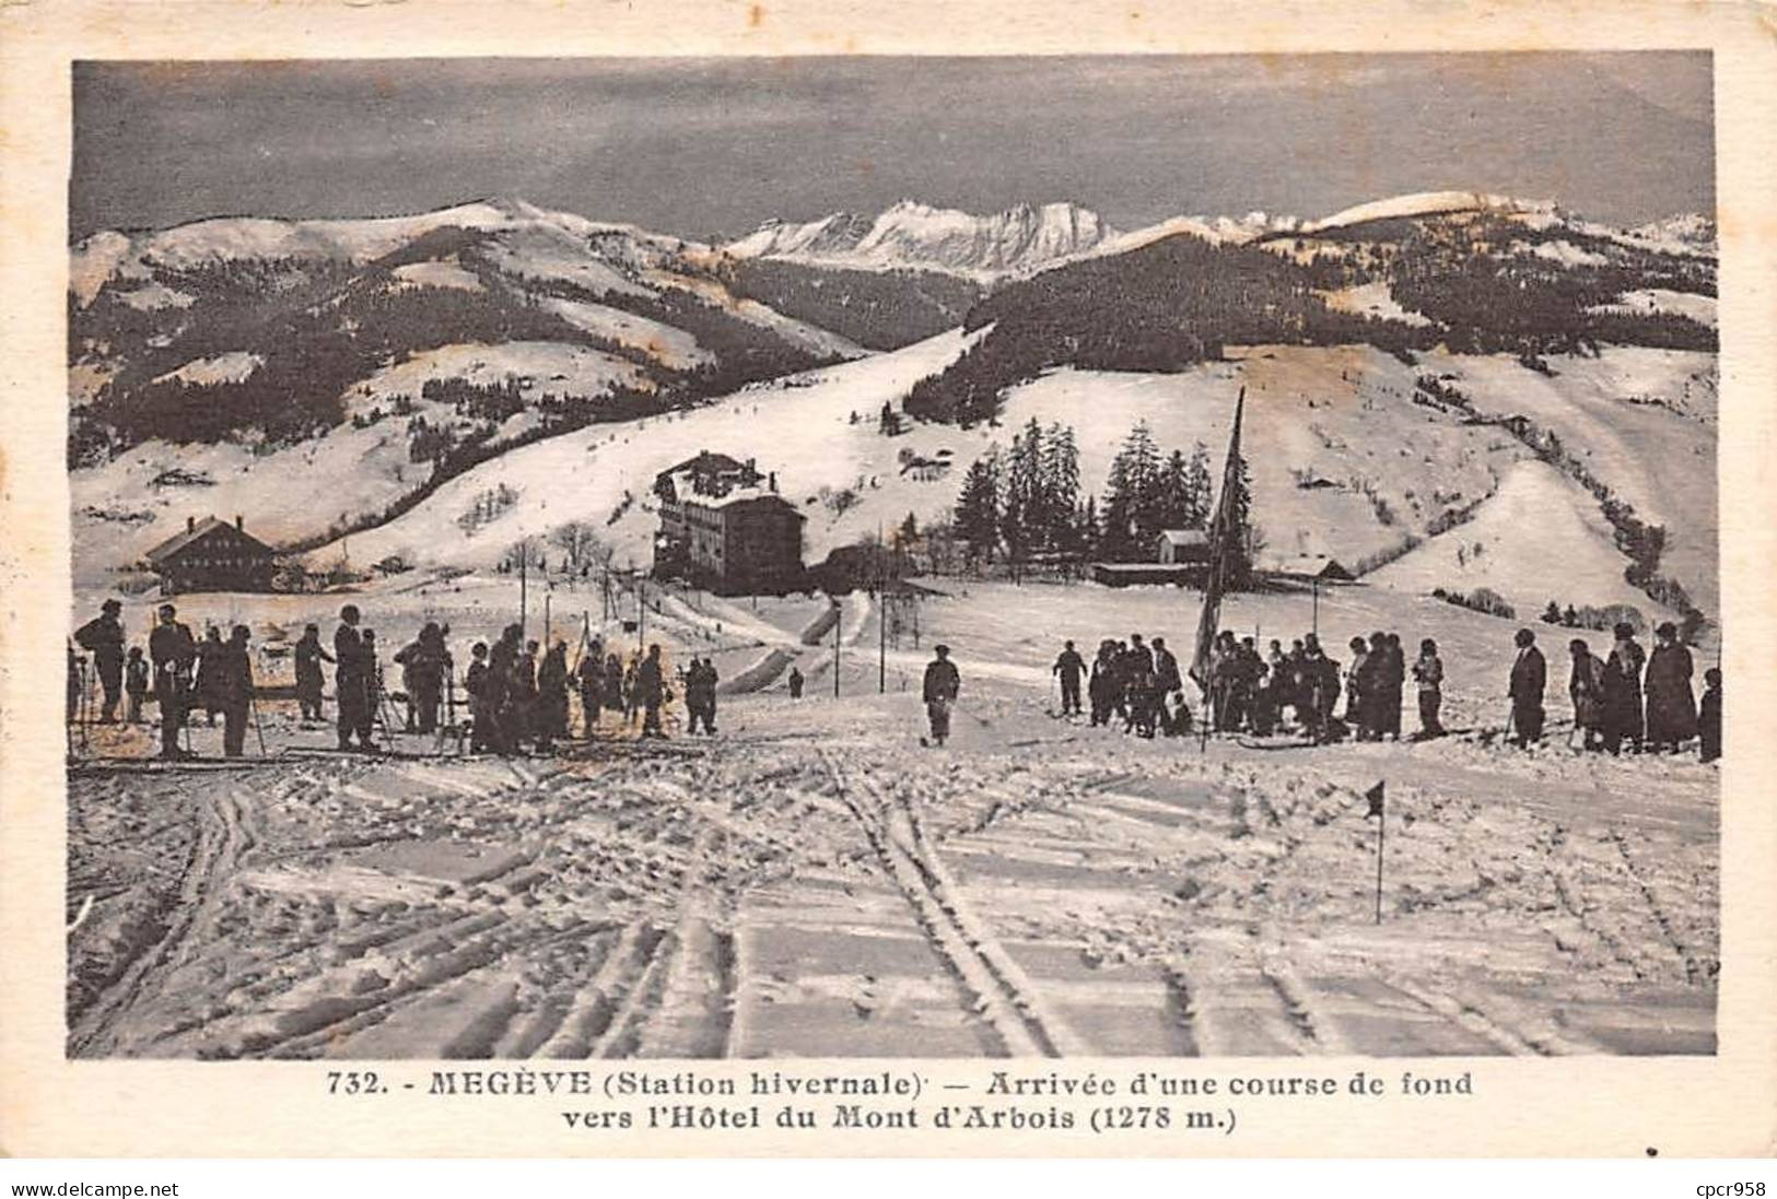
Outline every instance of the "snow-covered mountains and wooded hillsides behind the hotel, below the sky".
[[[1699, 220], [1610, 231], [1432, 194], [1164, 227], [1144, 240], [1075, 206], [965, 218], [904, 202], [714, 249], [487, 202], [96, 234], [75, 247], [69, 297], [76, 568], [103, 584], [194, 504], [249, 515], [315, 568], [487, 567], [569, 522], [645, 561], [652, 478], [700, 449], [775, 471], [817, 563], [910, 513], [944, 522], [963, 467], [1031, 419], [1075, 430], [1093, 496], [1134, 425], [1160, 446], [1217, 446], [1246, 385], [1274, 568], [1333, 558], [1519, 607], [1651, 607], [1622, 577], [1633, 519], [1663, 529], [1642, 563], [1644, 583], [1677, 584], [1660, 606], [1713, 611], [1713, 497], [1658, 485], [1713, 471]], [[752, 298], [755, 261], [970, 291], [947, 332], [871, 353]], [[1011, 274], [961, 281], [988, 266]], [[910, 417], [894, 435], [885, 405]], [[574, 487], [551, 485], [569, 469]], [[334, 480], [323, 503], [302, 485], [315, 472]], [[1530, 478], [1574, 512], [1539, 526], [1535, 551], [1592, 563], [1564, 581], [1573, 593], [1535, 595], [1542, 572], [1464, 529], [1486, 531]], [[496, 488], [515, 496], [499, 519], [464, 522]]]

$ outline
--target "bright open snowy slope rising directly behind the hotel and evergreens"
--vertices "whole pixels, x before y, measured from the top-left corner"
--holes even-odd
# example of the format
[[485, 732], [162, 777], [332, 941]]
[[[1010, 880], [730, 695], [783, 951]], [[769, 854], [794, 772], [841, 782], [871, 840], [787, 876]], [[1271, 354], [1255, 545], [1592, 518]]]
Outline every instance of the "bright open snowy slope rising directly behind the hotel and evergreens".
[[[963, 345], [960, 334], [944, 334], [782, 385], [750, 387], [704, 409], [514, 451], [393, 524], [354, 535], [352, 558], [363, 563], [402, 554], [474, 567], [498, 561], [521, 536], [585, 520], [620, 560], [647, 561], [657, 520], [647, 494], [654, 474], [713, 449], [753, 457], [761, 471], [777, 472], [780, 490], [807, 515], [805, 560], [814, 563], [908, 513], [919, 524], [947, 519], [967, 465], [990, 446], [1004, 449], [1029, 419], [1075, 428], [1082, 494], [1102, 494], [1111, 458], [1136, 421], [1146, 421], [1167, 451], [1189, 453], [1205, 442], [1219, 469], [1242, 384], [1255, 512], [1274, 565], [1331, 554], [1354, 567], [1409, 533], [1423, 535], [1445, 510], [1491, 494], [1526, 457], [1516, 441], [1464, 423], [1461, 412], [1416, 405], [1414, 371], [1398, 361], [1374, 350], [1311, 346], [1253, 348], [1233, 362], [1176, 375], [1059, 369], [1015, 387], [999, 428], [912, 423], [906, 433], [883, 437], [880, 407], [897, 405], [915, 378], [944, 366]], [[853, 412], [860, 417], [855, 423]], [[906, 458], [949, 467], [904, 471]], [[517, 504], [473, 533], [458, 528], [474, 497], [501, 485], [519, 492]], [[826, 503], [846, 488], [857, 494], [855, 506], [841, 512]], [[629, 506], [626, 492], [634, 496]], [[618, 510], [622, 515], [608, 522]], [[331, 565], [339, 549], [315, 551], [309, 561]]]

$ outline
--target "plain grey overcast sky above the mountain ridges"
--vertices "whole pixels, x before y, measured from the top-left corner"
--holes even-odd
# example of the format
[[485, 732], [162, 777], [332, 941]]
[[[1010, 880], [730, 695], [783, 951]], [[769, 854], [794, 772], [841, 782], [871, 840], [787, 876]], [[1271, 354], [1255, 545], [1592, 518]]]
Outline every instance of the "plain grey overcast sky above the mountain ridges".
[[1708, 53], [75, 66], [73, 236], [515, 195], [661, 233], [903, 197], [1326, 215], [1420, 190], [1713, 211]]

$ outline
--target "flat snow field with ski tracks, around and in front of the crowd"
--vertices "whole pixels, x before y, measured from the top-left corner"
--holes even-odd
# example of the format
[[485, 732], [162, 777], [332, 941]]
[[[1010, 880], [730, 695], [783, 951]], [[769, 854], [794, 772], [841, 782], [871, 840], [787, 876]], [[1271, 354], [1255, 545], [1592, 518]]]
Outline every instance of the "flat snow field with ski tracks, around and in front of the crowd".
[[[535, 581], [533, 581], [535, 583]], [[606, 718], [558, 758], [336, 757], [261, 703], [268, 757], [140, 769], [100, 728], [69, 780], [69, 1050], [78, 1057], [771, 1057], [1031, 1053], [1706, 1053], [1715, 1044], [1717, 771], [1498, 742], [1514, 623], [1388, 588], [1235, 597], [1224, 625], [1338, 647], [1436, 636], [1425, 744], [1144, 742], [1052, 714], [1063, 638], [1189, 645], [1173, 588], [929, 581], [922, 643], [880, 607], [650, 588], [668, 657], [732, 677], [721, 734], [645, 748]], [[556, 583], [627, 636], [634, 597]], [[464, 645], [510, 577], [354, 597], [384, 645], [423, 618]], [[265, 639], [341, 597], [188, 597]], [[657, 604], [657, 607], [654, 607]], [[540, 615], [531, 593], [531, 620]], [[144, 606], [126, 622], [140, 632]], [[323, 629], [331, 632], [332, 623]], [[919, 668], [956, 648], [945, 750], [917, 742]], [[1546, 638], [1551, 641], [1553, 638]], [[1553, 648], [1553, 647], [1550, 647]], [[1553, 655], [1551, 655], [1553, 659]], [[1699, 663], [1701, 666], [1701, 663]], [[1411, 727], [1411, 716], [1409, 716]], [[199, 721], [194, 744], [219, 750]], [[1388, 783], [1383, 924], [1375, 822]], [[89, 902], [91, 901], [91, 902]]]

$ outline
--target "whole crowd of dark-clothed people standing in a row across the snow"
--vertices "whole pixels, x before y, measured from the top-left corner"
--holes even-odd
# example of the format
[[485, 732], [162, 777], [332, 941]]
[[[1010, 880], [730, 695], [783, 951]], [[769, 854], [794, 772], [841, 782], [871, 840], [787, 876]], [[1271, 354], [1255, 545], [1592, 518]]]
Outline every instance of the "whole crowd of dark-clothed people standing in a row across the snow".
[[[220, 629], [210, 627], [197, 639], [178, 620], [176, 607], [162, 604], [144, 659], [140, 647], [126, 647], [121, 607], [117, 600], [105, 600], [100, 615], [75, 632], [75, 643], [92, 655], [103, 693], [98, 723], [114, 723], [123, 700], [128, 700], [126, 719], [139, 723], [142, 705], [155, 698], [162, 712], [162, 757], [188, 757], [179, 741], [187, 719], [197, 711], [211, 725], [222, 716], [224, 753], [238, 757], [249, 719], [256, 718], [247, 625], [235, 625], [226, 639]], [[1567, 693], [1578, 748], [1612, 755], [1676, 753], [1695, 739], [1702, 760], [1720, 757], [1720, 670], [1704, 671], [1699, 703], [1692, 687], [1692, 654], [1676, 625], [1665, 622], [1656, 629], [1651, 654], [1631, 625], [1619, 623], [1612, 632], [1610, 650], [1603, 655], [1594, 654], [1583, 638], [1571, 639], [1567, 647]], [[394, 652], [402, 689], [391, 696], [375, 631], [363, 627], [357, 606], [339, 609], [331, 654], [320, 627], [307, 625], [293, 647], [300, 719], [323, 719], [323, 664], [332, 664], [341, 750], [375, 750], [377, 727], [380, 723], [387, 734], [396, 707], [405, 709], [405, 732], [450, 732], [457, 721], [448, 634], [446, 625], [426, 622], [410, 643]], [[1514, 643], [1507, 737], [1512, 744], [1530, 746], [1542, 741], [1550, 671], [1535, 632], [1519, 629]], [[1063, 716], [1086, 714], [1095, 728], [1120, 723], [1123, 732], [1139, 737], [1176, 737], [1192, 730], [1258, 737], [1283, 732], [1313, 744], [1400, 741], [1404, 693], [1411, 679], [1418, 698], [1418, 730], [1411, 739], [1445, 735], [1445, 664], [1436, 641], [1420, 641], [1411, 663], [1395, 632], [1352, 638], [1349, 648], [1351, 657], [1342, 664], [1326, 654], [1317, 634], [1308, 632], [1290, 648], [1272, 639], [1262, 654], [1256, 638], [1223, 631], [1210, 647], [1207, 677], [1198, 680], [1205, 696], [1199, 714], [1185, 698], [1178, 657], [1160, 636], [1144, 639], [1134, 632], [1128, 639], [1104, 639], [1089, 663], [1073, 641], [1066, 641], [1052, 673], [1061, 687]], [[69, 719], [75, 719], [84, 677], [75, 645], [69, 645], [68, 655]], [[483, 641], [473, 647], [462, 682], [469, 707], [469, 748], [485, 753], [514, 753], [526, 746], [551, 751], [570, 735], [570, 700], [576, 696], [586, 739], [599, 732], [606, 714], [624, 732], [665, 737], [663, 711], [673, 698], [659, 645], [649, 645], [647, 652], [638, 647], [626, 657], [617, 647], [588, 638], [570, 664], [565, 641], [554, 639], [547, 648], [537, 639], [526, 641], [517, 623], [506, 625], [492, 647]], [[718, 682], [709, 657], [691, 657], [677, 673], [689, 734], [716, 734]], [[928, 744], [942, 746], [949, 737], [960, 686], [949, 647], [936, 647], [922, 687]], [[789, 693], [793, 698], [801, 695], [801, 675], [794, 666]], [[391, 698], [398, 703], [391, 705]]]

